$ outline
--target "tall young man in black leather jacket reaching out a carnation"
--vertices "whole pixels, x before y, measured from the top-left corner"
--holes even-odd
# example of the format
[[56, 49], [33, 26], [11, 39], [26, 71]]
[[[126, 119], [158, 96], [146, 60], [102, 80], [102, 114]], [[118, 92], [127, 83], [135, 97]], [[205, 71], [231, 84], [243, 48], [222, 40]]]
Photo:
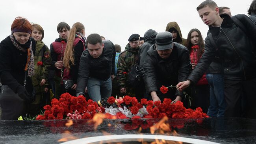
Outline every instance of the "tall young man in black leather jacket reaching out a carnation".
[[[246, 27], [243, 31], [227, 14], [219, 15], [219, 8], [212, 0], [197, 7], [202, 21], [209, 26], [205, 39], [205, 52], [187, 81], [177, 85], [179, 90], [197, 83], [209, 67], [212, 59], [219, 56], [223, 63], [225, 117], [241, 117], [241, 95], [246, 98], [247, 117], [256, 119], [256, 26], [244, 14], [235, 17]], [[211, 38], [212, 36], [212, 38]], [[215, 46], [216, 45], [216, 46]]]

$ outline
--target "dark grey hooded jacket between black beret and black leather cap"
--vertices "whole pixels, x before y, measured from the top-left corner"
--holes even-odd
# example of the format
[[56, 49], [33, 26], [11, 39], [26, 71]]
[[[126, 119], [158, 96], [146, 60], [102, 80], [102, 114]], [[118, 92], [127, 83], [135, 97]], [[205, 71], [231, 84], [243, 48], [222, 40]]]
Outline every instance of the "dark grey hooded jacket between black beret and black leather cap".
[[141, 45], [141, 48], [139, 49], [139, 65], [140, 68], [143, 65], [143, 61], [145, 60], [147, 51], [149, 48], [156, 43], [156, 35], [158, 32], [155, 30], [149, 29], [144, 34], [144, 43]]

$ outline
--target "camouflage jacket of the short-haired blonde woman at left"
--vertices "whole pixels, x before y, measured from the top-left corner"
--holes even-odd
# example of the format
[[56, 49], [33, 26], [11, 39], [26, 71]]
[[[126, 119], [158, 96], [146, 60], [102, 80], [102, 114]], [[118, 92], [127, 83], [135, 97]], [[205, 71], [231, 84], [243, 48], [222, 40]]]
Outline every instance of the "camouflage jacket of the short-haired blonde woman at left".
[[37, 41], [34, 53], [35, 74], [32, 76], [33, 86], [38, 86], [42, 79], [45, 79], [45, 85], [48, 85], [48, 72], [51, 62], [50, 50], [43, 41]]

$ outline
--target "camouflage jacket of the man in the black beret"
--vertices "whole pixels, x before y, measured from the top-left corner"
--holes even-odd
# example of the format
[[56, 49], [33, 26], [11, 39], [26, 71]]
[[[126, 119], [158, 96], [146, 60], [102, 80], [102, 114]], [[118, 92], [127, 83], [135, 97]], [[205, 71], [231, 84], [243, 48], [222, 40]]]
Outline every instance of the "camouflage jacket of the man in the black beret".
[[133, 49], [128, 43], [125, 47], [125, 50], [119, 55], [117, 63], [117, 82], [119, 89], [125, 88], [127, 86], [127, 74], [130, 72], [132, 65], [135, 65], [138, 60], [139, 48], [140, 47]]

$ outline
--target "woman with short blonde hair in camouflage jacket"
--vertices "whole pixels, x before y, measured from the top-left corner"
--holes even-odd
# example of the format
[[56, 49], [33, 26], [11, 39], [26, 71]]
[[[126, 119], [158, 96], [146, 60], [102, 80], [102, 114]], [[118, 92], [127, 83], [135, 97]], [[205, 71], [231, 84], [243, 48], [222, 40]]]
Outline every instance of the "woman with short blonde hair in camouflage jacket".
[[36, 41], [34, 54], [35, 74], [32, 76], [32, 83], [35, 88], [35, 101], [30, 104], [30, 116], [38, 115], [46, 101], [50, 99], [48, 95], [48, 73], [51, 66], [50, 50], [43, 43], [44, 29], [38, 24], [32, 24], [31, 37]]

